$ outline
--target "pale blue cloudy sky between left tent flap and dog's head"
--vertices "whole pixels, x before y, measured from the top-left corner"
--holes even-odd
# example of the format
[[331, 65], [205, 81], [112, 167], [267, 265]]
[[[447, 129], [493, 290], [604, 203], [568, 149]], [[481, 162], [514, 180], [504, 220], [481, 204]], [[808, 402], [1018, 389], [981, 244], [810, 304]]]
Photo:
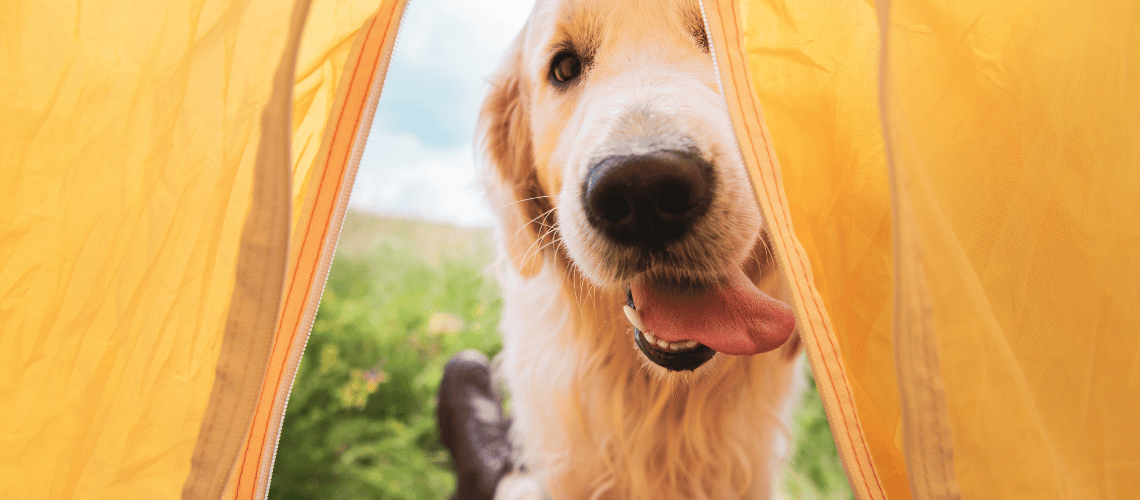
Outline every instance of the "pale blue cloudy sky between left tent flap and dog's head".
[[534, 0], [410, 0], [349, 206], [491, 224], [475, 117]]

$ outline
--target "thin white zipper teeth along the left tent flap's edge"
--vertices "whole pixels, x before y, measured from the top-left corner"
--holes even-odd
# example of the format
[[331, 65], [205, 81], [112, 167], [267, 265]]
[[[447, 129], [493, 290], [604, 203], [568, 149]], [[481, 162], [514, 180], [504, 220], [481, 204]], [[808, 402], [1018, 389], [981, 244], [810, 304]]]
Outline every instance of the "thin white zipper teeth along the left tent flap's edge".
[[[396, 56], [396, 49], [400, 47], [400, 33], [404, 32], [404, 23], [407, 21], [408, 5], [410, 3], [412, 0], [404, 0], [404, 7], [399, 11], [399, 22], [397, 23], [396, 26], [396, 36], [392, 39], [392, 47], [388, 55], [388, 62], [384, 63], [383, 81], [374, 83], [373, 88], [375, 89], [375, 91], [369, 91], [370, 96], [368, 97], [368, 104], [367, 104], [368, 107], [365, 110], [365, 116], [364, 116], [364, 122], [368, 123], [369, 125], [368, 132], [364, 134], [363, 140], [357, 140], [356, 145], [353, 145], [352, 147], [353, 149], [351, 156], [352, 166], [350, 167], [350, 171], [352, 172], [352, 179], [349, 180], [349, 186], [344, 187], [345, 189], [342, 191], [342, 195], [340, 196], [341, 199], [337, 202], [337, 207], [336, 207], [336, 213], [342, 214], [341, 223], [340, 227], [336, 229], [336, 238], [333, 239], [333, 246], [331, 248], [331, 252], [327, 254], [328, 255], [327, 265], [321, 265], [320, 268], [318, 268], [318, 269], [324, 269], [325, 271], [323, 273], [324, 276], [320, 278], [320, 294], [317, 296], [317, 302], [316, 302], [318, 309], [320, 308], [320, 302], [324, 301], [325, 298], [325, 285], [328, 284], [328, 272], [332, 270], [332, 261], [336, 256], [336, 248], [340, 246], [341, 235], [344, 232], [343, 216], [348, 214], [347, 205], [349, 203], [349, 198], [352, 196], [352, 185], [355, 183], [356, 180], [356, 171], [360, 164], [360, 157], [364, 155], [364, 148], [368, 142], [368, 137], [372, 136], [372, 121], [373, 117], [376, 115], [376, 105], [380, 103], [380, 96], [381, 93], [383, 93], [384, 84], [388, 82], [388, 72], [389, 69], [392, 68], [392, 58]], [[344, 195], [345, 192], [347, 196]], [[277, 451], [282, 442], [282, 431], [285, 428], [285, 412], [288, 411], [288, 401], [293, 396], [293, 385], [296, 383], [296, 374], [301, 369], [301, 360], [304, 358], [304, 351], [309, 346], [309, 338], [312, 336], [312, 326], [316, 323], [316, 321], [317, 321], [317, 312], [314, 311], [312, 317], [309, 319], [308, 328], [306, 328], [304, 330], [306, 331], [304, 344], [301, 345], [301, 352], [296, 358], [298, 363], [296, 367], [293, 368], [293, 376], [290, 378], [288, 391], [285, 392], [285, 400], [282, 403], [280, 424], [277, 425], [277, 437], [274, 438], [274, 453], [270, 456], [269, 459], [269, 470], [268, 474], [266, 475], [266, 486], [264, 486], [266, 489], [264, 492], [261, 494], [261, 500], [269, 499], [269, 485], [274, 478], [274, 467], [277, 465]]]

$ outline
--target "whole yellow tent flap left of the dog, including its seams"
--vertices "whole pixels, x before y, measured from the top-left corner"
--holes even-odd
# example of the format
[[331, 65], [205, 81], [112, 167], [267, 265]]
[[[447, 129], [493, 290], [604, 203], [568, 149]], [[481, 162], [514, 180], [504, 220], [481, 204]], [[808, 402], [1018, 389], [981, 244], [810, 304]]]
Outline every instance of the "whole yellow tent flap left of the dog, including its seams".
[[402, 6], [0, 6], [0, 497], [263, 497]]

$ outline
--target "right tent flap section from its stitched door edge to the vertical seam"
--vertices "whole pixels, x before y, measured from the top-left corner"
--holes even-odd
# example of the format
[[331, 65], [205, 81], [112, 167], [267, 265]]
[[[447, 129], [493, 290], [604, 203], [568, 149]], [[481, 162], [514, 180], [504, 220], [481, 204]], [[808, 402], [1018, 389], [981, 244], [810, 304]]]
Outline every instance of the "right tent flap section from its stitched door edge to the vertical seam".
[[861, 499], [906, 498], [890, 352], [860, 355], [868, 343], [889, 346], [890, 331], [874, 11], [862, 3], [703, 6], [741, 153], [852, 491]]

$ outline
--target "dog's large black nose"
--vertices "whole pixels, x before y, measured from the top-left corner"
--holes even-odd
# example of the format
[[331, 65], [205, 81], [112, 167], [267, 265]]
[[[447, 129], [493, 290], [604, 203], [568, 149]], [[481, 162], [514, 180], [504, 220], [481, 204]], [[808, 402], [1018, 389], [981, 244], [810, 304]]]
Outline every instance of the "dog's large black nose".
[[712, 183], [712, 165], [697, 153], [610, 156], [591, 166], [583, 205], [610, 239], [660, 248], [705, 215]]

